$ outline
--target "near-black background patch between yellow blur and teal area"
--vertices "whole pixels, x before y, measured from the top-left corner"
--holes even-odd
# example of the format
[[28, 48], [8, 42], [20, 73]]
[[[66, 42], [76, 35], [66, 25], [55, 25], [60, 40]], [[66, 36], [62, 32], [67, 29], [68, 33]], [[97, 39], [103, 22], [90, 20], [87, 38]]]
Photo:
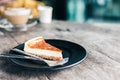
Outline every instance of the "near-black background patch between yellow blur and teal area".
[[53, 18], [59, 20], [66, 20], [67, 0], [39, 0], [44, 2], [47, 6], [52, 6]]

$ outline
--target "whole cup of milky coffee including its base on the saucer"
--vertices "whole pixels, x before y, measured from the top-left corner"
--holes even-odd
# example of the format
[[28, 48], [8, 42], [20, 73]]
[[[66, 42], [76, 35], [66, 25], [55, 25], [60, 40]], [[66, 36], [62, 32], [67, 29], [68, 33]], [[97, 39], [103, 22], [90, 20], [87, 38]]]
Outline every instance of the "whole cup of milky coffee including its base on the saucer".
[[[27, 8], [11, 8], [5, 11], [5, 16], [14, 30], [26, 31], [31, 10]], [[12, 31], [12, 29], [11, 29]]]

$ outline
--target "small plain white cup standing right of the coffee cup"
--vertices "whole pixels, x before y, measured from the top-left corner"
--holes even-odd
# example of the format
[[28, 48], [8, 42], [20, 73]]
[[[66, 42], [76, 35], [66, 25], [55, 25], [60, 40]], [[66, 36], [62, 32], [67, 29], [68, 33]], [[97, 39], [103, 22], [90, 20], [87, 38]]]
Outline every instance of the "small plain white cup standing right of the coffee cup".
[[41, 23], [51, 23], [52, 22], [52, 11], [53, 8], [50, 6], [38, 6], [39, 10], [39, 20]]

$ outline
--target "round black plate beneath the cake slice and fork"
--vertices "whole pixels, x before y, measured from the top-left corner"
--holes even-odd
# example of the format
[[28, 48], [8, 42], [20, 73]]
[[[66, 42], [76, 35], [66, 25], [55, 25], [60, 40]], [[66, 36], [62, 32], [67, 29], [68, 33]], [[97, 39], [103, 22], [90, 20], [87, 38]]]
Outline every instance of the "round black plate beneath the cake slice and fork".
[[[10, 59], [10, 60], [13, 63], [16, 63], [17, 65], [20, 65], [22, 67], [35, 68], [35, 69], [37, 68], [37, 69], [59, 70], [59, 69], [72, 67], [82, 62], [87, 56], [87, 52], [85, 48], [83, 48], [82, 46], [76, 43], [65, 41], [65, 40], [56, 40], [56, 39], [49, 39], [49, 40], [46, 40], [46, 42], [60, 48], [63, 51], [62, 53], [63, 57], [64, 58], [69, 57], [69, 61], [62, 66], [49, 67], [46, 65], [41, 65], [39, 62], [35, 62], [33, 60], [23, 60], [23, 59]], [[24, 44], [20, 44], [15, 48], [23, 50]], [[10, 51], [10, 54], [12, 53], [13, 52]], [[15, 54], [18, 54], [18, 53], [15, 53]]]

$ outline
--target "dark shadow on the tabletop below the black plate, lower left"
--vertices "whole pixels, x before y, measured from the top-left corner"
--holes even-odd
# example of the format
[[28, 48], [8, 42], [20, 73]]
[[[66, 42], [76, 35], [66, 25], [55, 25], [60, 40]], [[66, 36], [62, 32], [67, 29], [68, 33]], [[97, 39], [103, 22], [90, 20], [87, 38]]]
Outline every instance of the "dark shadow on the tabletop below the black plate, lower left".
[[0, 69], [10, 75], [18, 77], [37, 77], [43, 76], [47, 73], [55, 74], [59, 71], [31, 69], [12, 64], [8, 59], [0, 58]]

